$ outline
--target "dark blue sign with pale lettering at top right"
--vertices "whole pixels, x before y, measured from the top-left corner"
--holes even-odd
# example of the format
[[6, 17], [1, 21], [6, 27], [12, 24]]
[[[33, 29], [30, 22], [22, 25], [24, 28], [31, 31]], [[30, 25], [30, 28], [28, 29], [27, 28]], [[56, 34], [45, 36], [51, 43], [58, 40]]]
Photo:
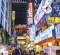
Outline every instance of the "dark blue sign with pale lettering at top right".
[[52, 16], [60, 16], [60, 3], [53, 3], [52, 10]]

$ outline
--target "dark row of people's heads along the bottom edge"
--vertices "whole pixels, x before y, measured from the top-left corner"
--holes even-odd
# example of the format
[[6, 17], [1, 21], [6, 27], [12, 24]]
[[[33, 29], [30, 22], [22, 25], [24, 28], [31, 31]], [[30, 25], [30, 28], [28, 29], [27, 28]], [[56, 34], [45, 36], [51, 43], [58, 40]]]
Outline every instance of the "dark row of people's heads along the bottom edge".
[[12, 51], [12, 55], [48, 55], [47, 53], [44, 53], [44, 51], [36, 52], [34, 50], [22, 50], [20, 48], [16, 48]]

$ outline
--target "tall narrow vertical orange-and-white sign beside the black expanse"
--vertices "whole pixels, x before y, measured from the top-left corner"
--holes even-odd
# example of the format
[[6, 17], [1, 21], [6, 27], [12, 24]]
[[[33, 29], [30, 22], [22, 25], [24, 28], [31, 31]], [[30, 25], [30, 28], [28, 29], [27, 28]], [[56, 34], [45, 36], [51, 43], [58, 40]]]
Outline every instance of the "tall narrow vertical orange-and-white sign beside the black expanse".
[[28, 3], [28, 22], [27, 24], [33, 24], [33, 4], [32, 3]]

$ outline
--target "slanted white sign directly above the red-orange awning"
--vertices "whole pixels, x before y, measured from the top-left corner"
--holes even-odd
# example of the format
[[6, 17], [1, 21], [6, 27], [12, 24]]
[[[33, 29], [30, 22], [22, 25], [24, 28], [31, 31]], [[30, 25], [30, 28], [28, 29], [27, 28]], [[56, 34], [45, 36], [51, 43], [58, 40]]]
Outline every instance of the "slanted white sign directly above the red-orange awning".
[[42, 41], [42, 40], [45, 40], [45, 39], [53, 37], [52, 30], [54, 30], [54, 25], [50, 26], [48, 29], [46, 29], [45, 31], [43, 31], [42, 33], [40, 33], [36, 37], [36, 40]]

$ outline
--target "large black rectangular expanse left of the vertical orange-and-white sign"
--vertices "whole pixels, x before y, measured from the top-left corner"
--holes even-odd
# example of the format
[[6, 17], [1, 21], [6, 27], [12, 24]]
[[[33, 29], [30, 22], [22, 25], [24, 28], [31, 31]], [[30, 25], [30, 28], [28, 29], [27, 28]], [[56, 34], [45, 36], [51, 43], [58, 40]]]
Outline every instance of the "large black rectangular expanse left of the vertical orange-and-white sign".
[[15, 25], [27, 24], [27, 4], [13, 3], [12, 10], [15, 10]]

